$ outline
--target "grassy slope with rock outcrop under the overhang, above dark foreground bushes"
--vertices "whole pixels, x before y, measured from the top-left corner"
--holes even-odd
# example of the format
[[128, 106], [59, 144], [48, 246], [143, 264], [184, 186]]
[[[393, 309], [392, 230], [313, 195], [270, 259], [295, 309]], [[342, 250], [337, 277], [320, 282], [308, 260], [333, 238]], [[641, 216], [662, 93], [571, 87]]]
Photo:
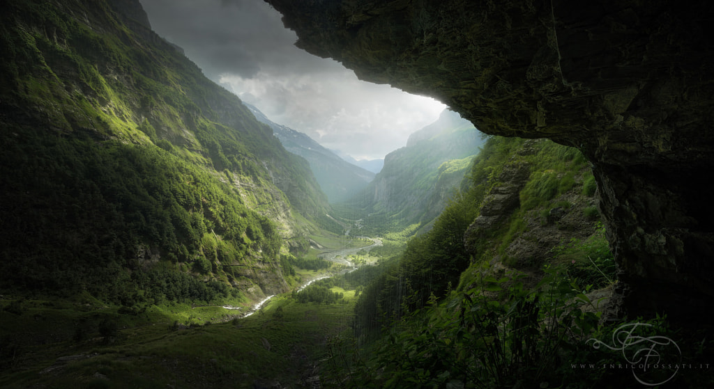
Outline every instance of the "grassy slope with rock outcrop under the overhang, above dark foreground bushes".
[[[558, 256], [555, 247], [577, 245], [573, 239], [579, 244], [598, 234], [598, 249], [608, 251], [595, 224], [600, 221], [594, 207], [595, 181], [575, 148], [548, 140], [491, 137], [469, 170], [463, 191], [437, 217], [435, 227], [411, 239], [399, 259], [401, 264], [391, 268], [401, 278], [383, 280], [371, 291], [381, 295], [380, 309], [394, 312], [358, 316], [398, 316], [406, 302], [400, 299], [407, 296], [410, 304], [421, 308], [431, 294], [446, 294], [449, 282], [457, 290], [471, 289], [476, 276], [486, 269], [496, 274], [508, 268], [542, 275], [543, 264]], [[585, 252], [592, 247], [581, 249]], [[593, 259], [598, 260], [595, 255]], [[587, 261], [580, 256], [578, 266]], [[612, 265], [610, 261], [610, 272]], [[398, 285], [396, 280], [401, 280]], [[392, 293], [407, 287], [413, 289]], [[363, 302], [376, 298], [366, 294]], [[365, 323], [366, 327], [373, 324]]]

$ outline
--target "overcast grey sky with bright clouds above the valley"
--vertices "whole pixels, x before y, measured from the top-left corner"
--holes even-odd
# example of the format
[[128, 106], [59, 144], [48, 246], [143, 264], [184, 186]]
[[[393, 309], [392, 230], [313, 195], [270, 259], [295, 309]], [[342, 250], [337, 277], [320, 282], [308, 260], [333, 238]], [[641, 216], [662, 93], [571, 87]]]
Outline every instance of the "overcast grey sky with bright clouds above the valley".
[[293, 43], [262, 0], [141, 0], [154, 31], [178, 44], [211, 80], [273, 122], [356, 159], [383, 158], [438, 118], [446, 105], [353, 71]]

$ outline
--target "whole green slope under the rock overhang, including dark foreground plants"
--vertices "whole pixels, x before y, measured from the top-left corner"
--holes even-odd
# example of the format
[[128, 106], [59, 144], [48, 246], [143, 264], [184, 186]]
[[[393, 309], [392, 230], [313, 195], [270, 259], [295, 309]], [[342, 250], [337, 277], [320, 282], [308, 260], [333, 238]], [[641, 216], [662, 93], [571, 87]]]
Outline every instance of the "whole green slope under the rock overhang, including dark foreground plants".
[[[594, 201], [590, 177], [570, 147], [488, 138], [431, 231], [376, 266], [381, 275], [364, 287], [354, 329], [365, 359], [348, 366], [351, 385], [501, 388], [552, 378], [538, 369], [553, 367], [547, 358], [568, 347], [565, 333], [580, 331], [583, 341], [598, 321], [558, 304], [574, 307], [568, 299], [614, 280], [601, 225], [584, 214]], [[553, 315], [555, 332], [542, 333], [538, 323]], [[511, 349], [489, 348], [483, 336]], [[366, 373], [376, 366], [380, 375]]]

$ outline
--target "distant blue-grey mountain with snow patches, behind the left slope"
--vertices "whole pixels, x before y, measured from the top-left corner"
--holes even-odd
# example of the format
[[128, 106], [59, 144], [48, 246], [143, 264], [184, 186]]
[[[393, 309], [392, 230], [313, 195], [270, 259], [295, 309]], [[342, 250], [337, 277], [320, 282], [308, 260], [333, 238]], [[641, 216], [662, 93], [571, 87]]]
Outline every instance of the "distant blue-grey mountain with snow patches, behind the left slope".
[[346, 162], [308, 135], [273, 123], [253, 105], [246, 106], [258, 121], [273, 129], [273, 134], [286, 150], [308, 160], [313, 175], [330, 202], [341, 202], [352, 197], [373, 180], [373, 172]]

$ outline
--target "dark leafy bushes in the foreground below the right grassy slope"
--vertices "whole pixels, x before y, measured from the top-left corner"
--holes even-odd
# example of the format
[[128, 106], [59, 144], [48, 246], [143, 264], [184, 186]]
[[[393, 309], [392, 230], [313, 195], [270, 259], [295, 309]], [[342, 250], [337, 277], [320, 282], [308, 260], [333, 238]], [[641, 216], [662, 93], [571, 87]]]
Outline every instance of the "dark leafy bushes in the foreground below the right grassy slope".
[[347, 363], [335, 355], [328, 366], [348, 388], [574, 387], [581, 377], [561, 361], [592, 350], [585, 341], [598, 316], [577, 308], [589, 301], [561, 271], [545, 274], [535, 289], [517, 274], [483, 276], [478, 288], [454, 294], [446, 306], [432, 297], [388, 333], [372, 358], [349, 365], [346, 382], [337, 372], [344, 374]]

